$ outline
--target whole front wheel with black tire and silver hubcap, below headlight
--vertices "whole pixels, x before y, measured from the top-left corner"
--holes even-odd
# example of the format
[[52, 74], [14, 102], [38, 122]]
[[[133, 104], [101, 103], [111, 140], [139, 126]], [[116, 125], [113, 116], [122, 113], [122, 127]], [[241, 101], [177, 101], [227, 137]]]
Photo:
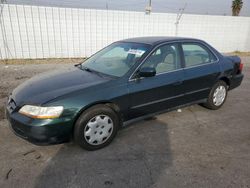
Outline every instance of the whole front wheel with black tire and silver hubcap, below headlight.
[[119, 129], [117, 114], [106, 105], [95, 105], [84, 111], [74, 127], [74, 141], [86, 150], [109, 145]]

